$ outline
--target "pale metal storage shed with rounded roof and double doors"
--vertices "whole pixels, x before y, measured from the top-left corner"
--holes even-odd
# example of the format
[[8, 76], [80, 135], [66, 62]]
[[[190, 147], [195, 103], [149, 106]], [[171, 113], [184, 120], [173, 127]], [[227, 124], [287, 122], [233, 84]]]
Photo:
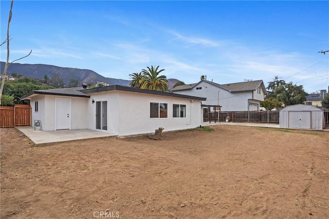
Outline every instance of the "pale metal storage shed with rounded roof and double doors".
[[324, 129], [323, 110], [310, 105], [291, 105], [280, 110], [280, 128]]

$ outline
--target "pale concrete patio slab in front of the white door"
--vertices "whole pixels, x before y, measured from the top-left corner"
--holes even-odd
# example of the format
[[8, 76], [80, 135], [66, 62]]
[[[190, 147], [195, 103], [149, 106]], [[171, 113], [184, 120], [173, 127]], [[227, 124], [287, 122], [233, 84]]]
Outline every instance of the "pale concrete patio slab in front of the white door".
[[76, 141], [87, 138], [100, 138], [116, 136], [112, 133], [95, 131], [90, 129], [41, 131], [32, 127], [16, 127], [25, 134], [36, 146], [42, 146], [58, 142]]

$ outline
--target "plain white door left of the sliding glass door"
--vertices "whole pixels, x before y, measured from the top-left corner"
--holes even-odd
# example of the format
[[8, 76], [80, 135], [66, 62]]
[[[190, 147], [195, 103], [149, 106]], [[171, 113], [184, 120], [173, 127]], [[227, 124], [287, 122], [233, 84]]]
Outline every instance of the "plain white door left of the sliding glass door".
[[71, 99], [55, 98], [55, 127], [71, 129]]

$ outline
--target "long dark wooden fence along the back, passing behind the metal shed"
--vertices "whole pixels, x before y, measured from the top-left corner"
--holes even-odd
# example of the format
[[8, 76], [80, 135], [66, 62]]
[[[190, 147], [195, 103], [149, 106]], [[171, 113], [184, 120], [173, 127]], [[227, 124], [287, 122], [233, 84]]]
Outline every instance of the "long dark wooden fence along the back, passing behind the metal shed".
[[[206, 108], [205, 108], [206, 109]], [[219, 114], [219, 115], [218, 115]], [[279, 111], [227, 111], [210, 112], [204, 111], [204, 122], [209, 121], [225, 122], [226, 117], [230, 117], [230, 122], [234, 123], [279, 123]], [[329, 125], [329, 111], [324, 111], [325, 125]]]

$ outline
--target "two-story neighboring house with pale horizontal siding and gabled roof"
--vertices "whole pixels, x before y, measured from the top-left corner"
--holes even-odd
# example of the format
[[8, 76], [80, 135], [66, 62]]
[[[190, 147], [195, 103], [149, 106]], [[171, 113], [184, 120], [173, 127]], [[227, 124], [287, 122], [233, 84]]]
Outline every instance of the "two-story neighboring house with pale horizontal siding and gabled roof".
[[202, 80], [195, 84], [181, 85], [173, 93], [207, 98], [203, 105], [220, 105], [222, 111], [256, 111], [266, 94], [263, 80], [217, 84]]

